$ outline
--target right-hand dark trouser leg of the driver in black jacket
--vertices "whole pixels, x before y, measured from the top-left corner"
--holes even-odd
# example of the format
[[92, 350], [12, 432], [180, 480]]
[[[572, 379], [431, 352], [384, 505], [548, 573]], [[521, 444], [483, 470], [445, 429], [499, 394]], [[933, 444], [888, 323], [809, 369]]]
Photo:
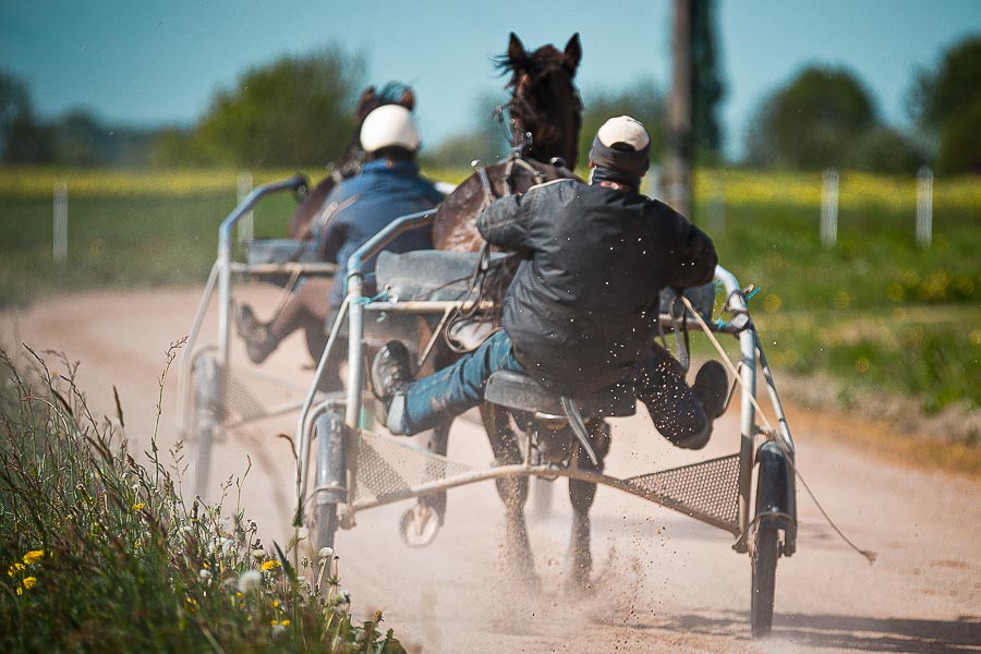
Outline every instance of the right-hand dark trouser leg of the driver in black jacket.
[[647, 407], [662, 436], [690, 449], [704, 447], [708, 441], [712, 422], [670, 352], [655, 343], [637, 366], [634, 387], [637, 399]]

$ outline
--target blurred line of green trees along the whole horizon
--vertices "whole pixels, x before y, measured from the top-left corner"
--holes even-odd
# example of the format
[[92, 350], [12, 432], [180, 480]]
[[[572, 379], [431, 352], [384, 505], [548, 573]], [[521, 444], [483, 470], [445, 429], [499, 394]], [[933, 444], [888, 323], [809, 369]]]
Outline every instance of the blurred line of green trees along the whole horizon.
[[[725, 85], [711, 16], [699, 20], [693, 57], [695, 156], [697, 161], [714, 162], [722, 147], [717, 105]], [[195, 124], [141, 130], [106, 124], [84, 109], [56, 120], [39, 119], [24, 82], [0, 72], [0, 161], [75, 167], [323, 165], [350, 138], [352, 108], [364, 78], [364, 61], [339, 47], [284, 56], [217, 92]], [[465, 166], [506, 155], [506, 130], [492, 118], [505, 99], [477, 98], [474, 129], [426, 147], [424, 160]], [[665, 96], [652, 81], [615, 90], [585, 89], [583, 101], [583, 161], [602, 121], [621, 113], [644, 122], [654, 141], [652, 158], [659, 157]], [[898, 173], [928, 162], [942, 172], [981, 172], [981, 36], [948, 49], [934, 68], [918, 71], [907, 108], [917, 126], [913, 134], [885, 124], [864, 84], [849, 70], [808, 66], [761, 102], [747, 134], [746, 164]]]

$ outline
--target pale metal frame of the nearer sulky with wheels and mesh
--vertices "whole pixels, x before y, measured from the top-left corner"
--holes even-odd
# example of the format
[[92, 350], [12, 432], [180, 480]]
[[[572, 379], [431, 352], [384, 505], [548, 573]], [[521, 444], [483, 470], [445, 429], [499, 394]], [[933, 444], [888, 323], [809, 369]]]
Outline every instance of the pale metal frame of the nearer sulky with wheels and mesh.
[[[298, 525], [305, 514], [316, 546], [323, 547], [334, 544], [338, 526], [349, 529], [354, 525], [358, 511], [456, 486], [510, 476], [566, 476], [594, 482], [675, 509], [731, 533], [735, 537], [734, 549], [749, 554], [752, 561], [752, 632], [754, 635], [767, 633], [773, 622], [777, 559], [792, 555], [797, 545], [795, 448], [773, 374], [750, 318], [747, 292], [736, 277], [723, 267], [716, 268], [715, 281], [724, 289], [726, 298], [720, 315], [726, 318], [719, 317], [705, 324], [712, 332], [729, 335], [739, 341], [737, 386], [741, 389], [740, 434], [736, 453], [629, 479], [582, 470], [576, 457], [564, 467], [536, 463], [531, 456], [531, 447], [525, 448], [528, 456], [523, 463], [474, 469], [421, 450], [405, 439], [374, 433], [362, 422], [364, 400], [370, 397], [365, 393], [364, 383], [365, 315], [377, 316], [379, 320], [398, 314], [441, 316], [439, 328], [425, 348], [428, 352], [447, 316], [465, 302], [363, 296], [364, 263], [377, 256], [398, 235], [431, 225], [433, 213], [400, 218], [348, 261], [347, 299], [329, 335], [296, 424]], [[349, 362], [346, 397], [325, 398], [316, 388], [328, 355], [337, 347], [343, 320], [348, 325]], [[680, 318], [661, 316], [662, 326], [666, 329], [677, 329], [679, 320], [692, 329], [700, 328], [691, 314]], [[760, 372], [777, 419], [775, 429], [764, 429], [758, 424], [755, 393]], [[486, 399], [494, 401], [489, 395], [488, 391]], [[314, 441], [317, 443], [317, 453], [312, 469]], [[753, 501], [754, 468], [758, 470]], [[407, 521], [411, 521], [409, 512], [402, 522], [403, 537], [408, 537]], [[435, 536], [438, 525], [428, 525], [427, 529], [429, 533], [420, 536], [420, 544], [427, 544]]]

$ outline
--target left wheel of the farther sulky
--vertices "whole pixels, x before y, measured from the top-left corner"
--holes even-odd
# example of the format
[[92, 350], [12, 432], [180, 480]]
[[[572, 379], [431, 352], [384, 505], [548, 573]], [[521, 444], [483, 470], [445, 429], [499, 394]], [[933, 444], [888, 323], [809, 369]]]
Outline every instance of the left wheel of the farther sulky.
[[187, 434], [190, 480], [195, 495], [204, 495], [211, 468], [211, 447], [221, 434], [221, 373], [215, 353], [205, 350], [191, 367]]

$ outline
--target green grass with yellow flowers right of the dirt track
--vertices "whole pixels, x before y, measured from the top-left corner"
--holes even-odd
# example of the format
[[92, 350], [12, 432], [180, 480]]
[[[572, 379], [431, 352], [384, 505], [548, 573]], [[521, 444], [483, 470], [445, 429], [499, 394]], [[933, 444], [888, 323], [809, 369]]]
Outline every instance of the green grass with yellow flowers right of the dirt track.
[[762, 204], [727, 206], [722, 223], [698, 215], [723, 265], [762, 287], [750, 308], [773, 365], [837, 379], [845, 407], [893, 393], [927, 414], [981, 408], [981, 206], [935, 207], [925, 251], [911, 207], [845, 205], [828, 247], [819, 217]]

